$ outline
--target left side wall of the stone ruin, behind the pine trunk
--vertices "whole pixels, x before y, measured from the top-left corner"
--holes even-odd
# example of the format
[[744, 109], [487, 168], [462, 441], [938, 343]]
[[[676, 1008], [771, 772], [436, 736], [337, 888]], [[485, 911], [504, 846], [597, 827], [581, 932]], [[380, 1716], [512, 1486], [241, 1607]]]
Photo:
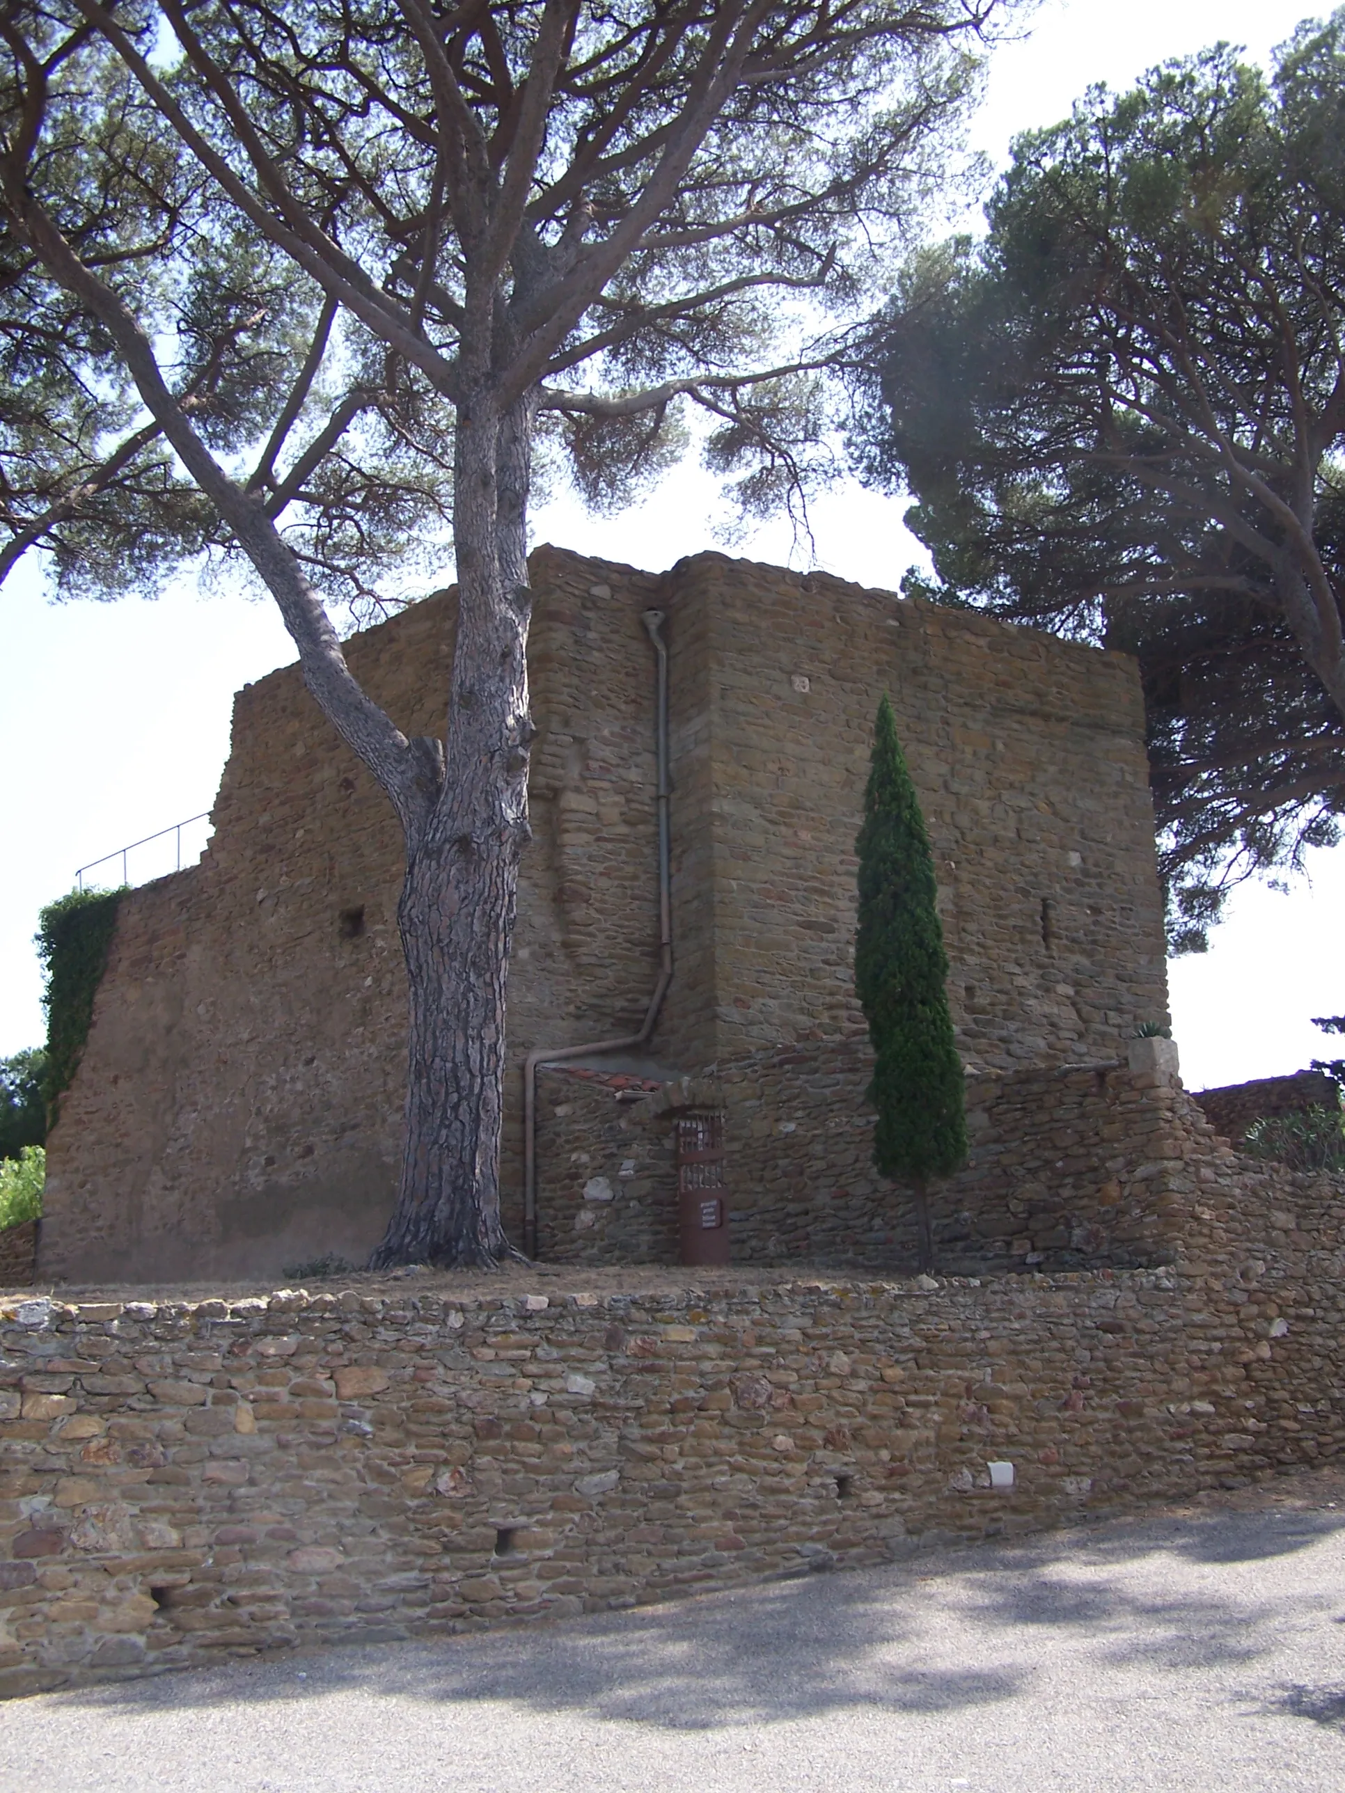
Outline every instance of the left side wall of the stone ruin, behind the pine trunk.
[[[536, 839], [509, 1015], [522, 1045], [638, 1026], [656, 966], [658, 579], [533, 561]], [[409, 735], [439, 728], [454, 597], [353, 637]], [[282, 1273], [382, 1234], [400, 1156], [402, 843], [382, 793], [285, 667], [235, 699], [199, 866], [118, 913], [88, 1047], [48, 1142], [47, 1277]], [[516, 1079], [504, 1176], [518, 1232]]]

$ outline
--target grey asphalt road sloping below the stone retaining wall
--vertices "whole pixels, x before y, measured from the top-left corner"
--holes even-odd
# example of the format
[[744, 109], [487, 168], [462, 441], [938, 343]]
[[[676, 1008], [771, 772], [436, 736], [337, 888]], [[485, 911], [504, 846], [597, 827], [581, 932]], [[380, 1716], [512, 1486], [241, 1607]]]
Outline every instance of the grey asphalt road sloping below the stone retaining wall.
[[1345, 1508], [45, 1694], [0, 1788], [1341, 1793]]

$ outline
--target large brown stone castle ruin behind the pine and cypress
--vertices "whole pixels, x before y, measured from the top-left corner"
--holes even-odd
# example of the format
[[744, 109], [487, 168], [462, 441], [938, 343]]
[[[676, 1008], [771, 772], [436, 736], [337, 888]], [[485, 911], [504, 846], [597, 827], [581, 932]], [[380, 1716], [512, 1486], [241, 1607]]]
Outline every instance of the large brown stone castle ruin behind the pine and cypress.
[[[870, 1165], [852, 990], [854, 839], [888, 692], [968, 1070], [974, 1153], [940, 1198], [940, 1260], [1160, 1262], [1151, 1176], [1132, 1174], [1176, 1099], [1171, 1065], [1128, 1065], [1137, 1026], [1166, 1020], [1133, 663], [719, 554], [656, 576], [540, 549], [531, 576], [511, 1237], [543, 1259], [676, 1260], [674, 1121], [712, 1115], [735, 1262], [904, 1260], [906, 1203]], [[656, 640], [672, 977], [647, 1040], [549, 1069], [640, 1035], [660, 988]], [[418, 735], [438, 728], [452, 645], [443, 592], [348, 653]], [[362, 1262], [382, 1234], [404, 1099], [400, 834], [298, 667], [239, 692], [213, 828], [199, 866], [122, 902], [50, 1140], [45, 1278], [276, 1275]]]

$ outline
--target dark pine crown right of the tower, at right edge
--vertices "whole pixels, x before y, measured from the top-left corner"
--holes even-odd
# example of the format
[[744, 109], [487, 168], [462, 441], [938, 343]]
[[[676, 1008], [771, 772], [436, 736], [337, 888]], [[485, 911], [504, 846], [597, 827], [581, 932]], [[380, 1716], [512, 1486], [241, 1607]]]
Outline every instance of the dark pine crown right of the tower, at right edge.
[[1345, 823], [1343, 140], [1345, 5], [1098, 84], [854, 364], [904, 590], [1137, 656], [1173, 952]]

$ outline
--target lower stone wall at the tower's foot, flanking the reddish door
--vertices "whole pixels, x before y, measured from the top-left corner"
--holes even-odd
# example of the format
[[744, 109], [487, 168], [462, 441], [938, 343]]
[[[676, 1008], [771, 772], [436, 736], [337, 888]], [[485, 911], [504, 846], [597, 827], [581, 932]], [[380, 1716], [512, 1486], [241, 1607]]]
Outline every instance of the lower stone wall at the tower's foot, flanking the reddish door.
[[[592, 1074], [590, 1074], [592, 1076]], [[717, 1067], [687, 1096], [638, 1079], [540, 1088], [542, 1255], [676, 1262], [672, 1110], [725, 1113], [735, 1264], [891, 1269], [915, 1260], [911, 1207], [873, 1173], [866, 1040], [803, 1044]], [[631, 1087], [637, 1085], [637, 1087]], [[1200, 1110], [1150, 1070], [1101, 1065], [967, 1079], [970, 1160], [934, 1192], [940, 1266], [1137, 1268], [1173, 1255], [1214, 1149]]]

